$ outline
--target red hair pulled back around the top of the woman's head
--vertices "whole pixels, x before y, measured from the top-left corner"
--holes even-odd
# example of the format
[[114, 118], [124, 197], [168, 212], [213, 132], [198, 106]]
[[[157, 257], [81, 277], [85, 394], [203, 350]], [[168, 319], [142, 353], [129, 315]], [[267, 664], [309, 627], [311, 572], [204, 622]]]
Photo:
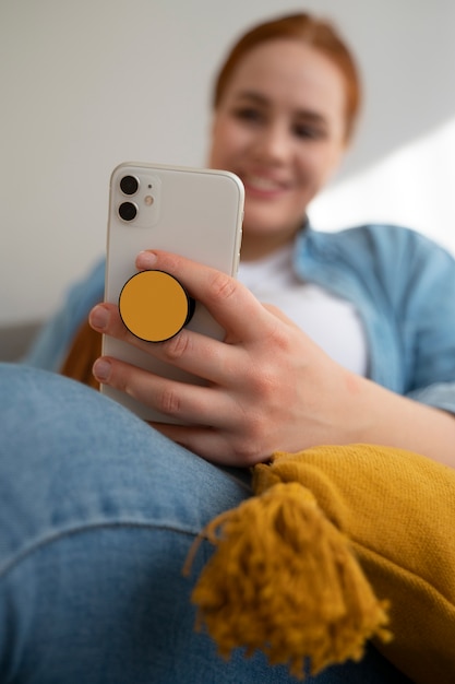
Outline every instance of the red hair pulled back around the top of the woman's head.
[[310, 14], [290, 14], [253, 26], [234, 45], [215, 81], [213, 105], [219, 105], [234, 71], [244, 55], [266, 40], [291, 38], [319, 50], [339, 69], [346, 91], [346, 140], [352, 135], [361, 103], [361, 85], [356, 61], [332, 24]]

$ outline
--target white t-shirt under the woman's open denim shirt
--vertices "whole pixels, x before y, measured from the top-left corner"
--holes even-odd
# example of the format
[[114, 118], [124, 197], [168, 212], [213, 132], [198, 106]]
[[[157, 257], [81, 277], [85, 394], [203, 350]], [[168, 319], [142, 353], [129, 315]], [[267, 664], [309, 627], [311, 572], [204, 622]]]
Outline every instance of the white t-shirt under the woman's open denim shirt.
[[313, 283], [299, 280], [287, 246], [259, 261], [240, 262], [238, 279], [263, 304], [273, 304], [344, 367], [364, 376], [368, 352], [356, 307]]

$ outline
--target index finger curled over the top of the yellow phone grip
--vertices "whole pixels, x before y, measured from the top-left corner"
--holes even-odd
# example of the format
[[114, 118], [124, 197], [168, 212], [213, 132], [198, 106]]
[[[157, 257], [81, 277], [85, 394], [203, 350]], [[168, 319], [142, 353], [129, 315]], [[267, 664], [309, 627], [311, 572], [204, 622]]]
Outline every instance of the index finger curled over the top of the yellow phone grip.
[[136, 268], [159, 269], [173, 275], [239, 341], [256, 340], [267, 333], [273, 316], [247, 287], [226, 273], [160, 250], [141, 252]]

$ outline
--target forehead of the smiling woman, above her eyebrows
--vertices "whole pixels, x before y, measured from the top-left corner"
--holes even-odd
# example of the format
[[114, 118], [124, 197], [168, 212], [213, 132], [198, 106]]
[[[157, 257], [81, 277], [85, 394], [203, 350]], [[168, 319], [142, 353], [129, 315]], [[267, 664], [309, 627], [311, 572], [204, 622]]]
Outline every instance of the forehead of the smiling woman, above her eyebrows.
[[273, 39], [247, 52], [227, 84], [225, 97], [261, 91], [273, 102], [343, 114], [345, 81], [320, 50], [294, 39]]

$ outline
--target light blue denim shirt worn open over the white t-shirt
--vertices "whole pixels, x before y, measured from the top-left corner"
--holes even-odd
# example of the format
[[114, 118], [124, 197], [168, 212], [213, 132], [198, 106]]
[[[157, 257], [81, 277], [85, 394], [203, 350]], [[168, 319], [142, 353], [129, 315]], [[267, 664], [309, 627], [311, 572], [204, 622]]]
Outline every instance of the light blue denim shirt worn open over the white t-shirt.
[[[369, 346], [368, 377], [455, 413], [455, 260], [427, 237], [393, 225], [322, 233], [306, 225], [295, 269], [354, 304]], [[68, 293], [24, 363], [58, 370], [88, 310], [104, 296], [105, 261]], [[334, 331], [336, 334], [336, 331]]]

